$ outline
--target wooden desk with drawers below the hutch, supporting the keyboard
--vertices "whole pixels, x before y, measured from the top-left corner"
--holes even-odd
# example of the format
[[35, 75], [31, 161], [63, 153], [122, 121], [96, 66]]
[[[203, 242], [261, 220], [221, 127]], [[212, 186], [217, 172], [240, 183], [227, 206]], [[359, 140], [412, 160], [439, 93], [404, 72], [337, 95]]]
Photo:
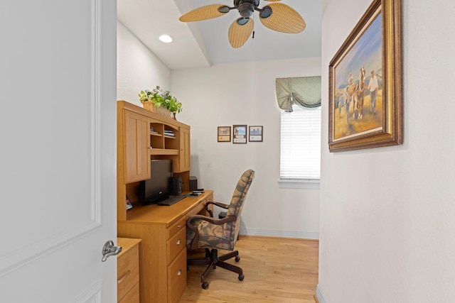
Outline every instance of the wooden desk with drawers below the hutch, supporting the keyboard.
[[142, 303], [173, 303], [186, 289], [186, 220], [205, 214], [213, 191], [186, 197], [171, 206], [138, 205], [117, 221], [117, 234], [140, 238], [139, 292]]

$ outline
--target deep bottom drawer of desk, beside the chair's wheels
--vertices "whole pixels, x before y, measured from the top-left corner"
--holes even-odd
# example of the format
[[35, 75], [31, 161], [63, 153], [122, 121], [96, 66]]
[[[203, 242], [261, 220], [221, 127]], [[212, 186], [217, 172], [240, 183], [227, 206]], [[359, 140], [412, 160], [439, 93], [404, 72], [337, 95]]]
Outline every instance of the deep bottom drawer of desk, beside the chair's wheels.
[[168, 303], [177, 303], [186, 290], [186, 250], [168, 266]]

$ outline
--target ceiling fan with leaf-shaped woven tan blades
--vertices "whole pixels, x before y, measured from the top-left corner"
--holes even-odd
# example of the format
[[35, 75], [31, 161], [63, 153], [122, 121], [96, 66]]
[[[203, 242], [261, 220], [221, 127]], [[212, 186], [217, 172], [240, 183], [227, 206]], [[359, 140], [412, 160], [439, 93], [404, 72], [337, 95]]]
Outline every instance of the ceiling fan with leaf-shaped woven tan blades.
[[[281, 33], [300, 33], [304, 31], [306, 27], [304, 18], [291, 6], [282, 3], [272, 3], [261, 9], [259, 8], [259, 1], [234, 0], [234, 6], [232, 7], [225, 4], [210, 4], [188, 11], [178, 20], [182, 22], [203, 21], [223, 16], [232, 9], [237, 9], [240, 13], [240, 18], [237, 18], [231, 24], [228, 33], [229, 43], [232, 48], [240, 48], [250, 38], [254, 27], [252, 15], [255, 11], [259, 12], [261, 23], [274, 31]], [[278, 2], [281, 0], [265, 1]]]

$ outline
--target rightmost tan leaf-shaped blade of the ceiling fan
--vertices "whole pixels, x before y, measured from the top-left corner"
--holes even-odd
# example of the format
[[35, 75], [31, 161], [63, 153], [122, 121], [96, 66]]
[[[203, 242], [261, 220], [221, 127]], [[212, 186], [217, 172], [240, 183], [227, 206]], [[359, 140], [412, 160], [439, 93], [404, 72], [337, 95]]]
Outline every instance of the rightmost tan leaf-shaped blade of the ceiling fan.
[[[264, 6], [262, 10], [267, 7], [272, 9], [272, 16], [259, 18], [261, 23], [267, 28], [281, 33], [300, 33], [306, 28], [304, 18], [291, 6], [282, 3], [272, 3]], [[259, 16], [261, 16], [260, 13]]]

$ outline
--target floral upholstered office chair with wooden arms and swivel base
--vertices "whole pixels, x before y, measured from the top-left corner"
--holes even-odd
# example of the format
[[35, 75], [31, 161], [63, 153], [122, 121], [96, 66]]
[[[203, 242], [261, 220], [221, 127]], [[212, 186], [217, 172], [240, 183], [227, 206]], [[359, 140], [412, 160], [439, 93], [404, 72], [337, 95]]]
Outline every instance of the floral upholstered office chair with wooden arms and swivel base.
[[[240, 231], [240, 214], [243, 202], [245, 202], [245, 197], [254, 178], [255, 171], [247, 170], [237, 182], [230, 204], [207, 202], [205, 209], [210, 216], [195, 215], [189, 217], [186, 222], [186, 246], [188, 250], [205, 248], [205, 258], [187, 260], [187, 265], [208, 265], [200, 276], [204, 290], [208, 288], [208, 282], [205, 281], [205, 278], [217, 266], [236, 272], [240, 281], [245, 277], [242, 268], [226, 263], [225, 260], [235, 257], [235, 262], [240, 261], [239, 252], [234, 250], [234, 246]], [[227, 209], [225, 218], [214, 219], [213, 212], [208, 207], [210, 204]], [[231, 251], [219, 256], [218, 249]]]

